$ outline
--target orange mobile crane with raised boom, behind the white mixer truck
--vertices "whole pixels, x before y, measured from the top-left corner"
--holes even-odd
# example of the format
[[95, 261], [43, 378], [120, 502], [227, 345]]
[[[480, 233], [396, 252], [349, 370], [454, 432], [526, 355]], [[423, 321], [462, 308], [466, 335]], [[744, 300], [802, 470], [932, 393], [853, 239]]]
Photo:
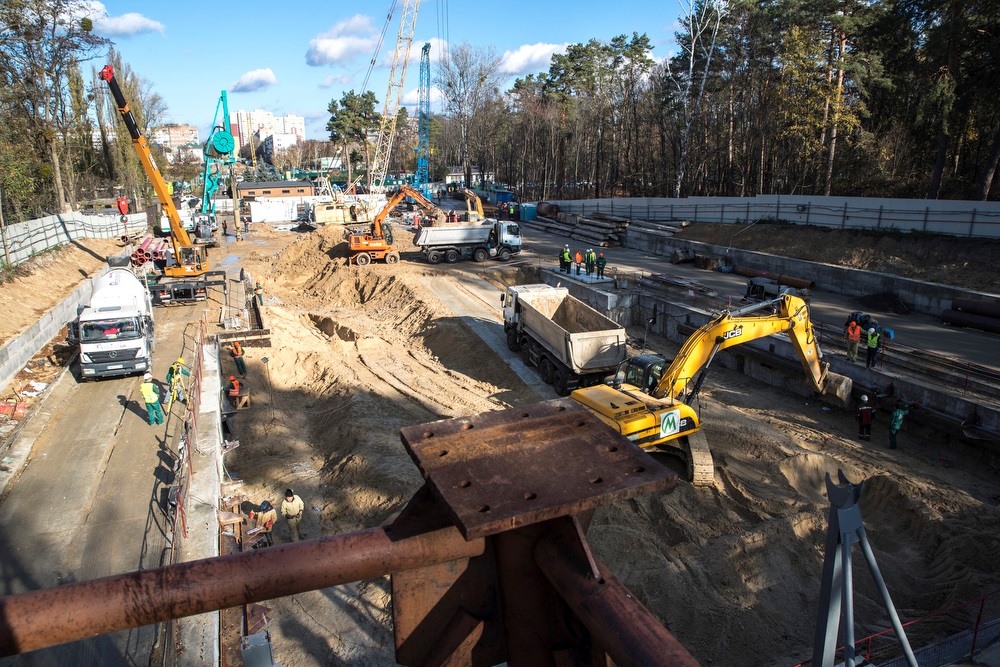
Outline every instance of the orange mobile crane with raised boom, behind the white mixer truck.
[[104, 79], [111, 95], [115, 98], [118, 113], [121, 114], [125, 127], [128, 128], [132, 137], [132, 145], [142, 162], [146, 175], [153, 184], [156, 197], [163, 206], [163, 211], [170, 221], [170, 242], [173, 246], [173, 260], [167, 260], [161, 267], [162, 275], [157, 276], [155, 282], [149, 286], [160, 303], [177, 303], [198, 301], [205, 298], [208, 287], [212, 285], [226, 286], [225, 271], [211, 271], [208, 263], [208, 249], [204, 245], [198, 245], [191, 241], [187, 230], [181, 222], [177, 207], [174, 206], [167, 184], [160, 175], [160, 170], [153, 162], [153, 156], [149, 151], [146, 138], [139, 131], [139, 126], [135, 122], [135, 116], [129, 108], [118, 80], [115, 78], [115, 70], [111, 65], [107, 65], [101, 70], [101, 78]]

